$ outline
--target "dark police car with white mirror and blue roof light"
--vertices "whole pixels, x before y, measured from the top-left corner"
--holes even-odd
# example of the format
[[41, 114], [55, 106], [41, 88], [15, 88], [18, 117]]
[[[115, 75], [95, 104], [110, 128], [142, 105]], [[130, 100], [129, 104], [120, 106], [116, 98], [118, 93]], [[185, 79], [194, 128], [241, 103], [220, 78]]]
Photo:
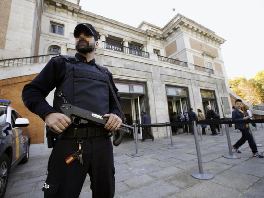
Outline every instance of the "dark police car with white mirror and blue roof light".
[[0, 99], [0, 198], [5, 195], [10, 171], [29, 158], [29, 121], [10, 105], [9, 100]]

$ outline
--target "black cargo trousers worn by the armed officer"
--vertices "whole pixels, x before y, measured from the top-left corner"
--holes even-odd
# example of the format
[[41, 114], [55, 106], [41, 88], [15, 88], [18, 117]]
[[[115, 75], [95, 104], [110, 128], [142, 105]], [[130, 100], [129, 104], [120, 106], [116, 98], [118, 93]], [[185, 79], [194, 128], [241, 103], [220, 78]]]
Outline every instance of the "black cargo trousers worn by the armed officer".
[[48, 163], [48, 176], [42, 188], [44, 198], [78, 198], [87, 173], [93, 198], [113, 198], [115, 168], [113, 147], [106, 135], [83, 138], [83, 165], [78, 159], [66, 164], [65, 159], [78, 150], [76, 138], [58, 139]]

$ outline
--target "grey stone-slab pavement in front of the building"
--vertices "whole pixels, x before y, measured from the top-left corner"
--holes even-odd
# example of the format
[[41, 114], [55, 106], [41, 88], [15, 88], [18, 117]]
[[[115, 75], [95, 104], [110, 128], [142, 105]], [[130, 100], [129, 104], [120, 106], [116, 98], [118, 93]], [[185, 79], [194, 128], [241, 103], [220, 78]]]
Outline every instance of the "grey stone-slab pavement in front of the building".
[[[252, 157], [246, 142], [240, 149], [241, 159], [226, 159], [228, 154], [226, 136], [210, 136], [210, 131], [200, 141], [203, 170], [214, 174], [211, 180], [199, 180], [191, 176], [198, 171], [198, 163], [193, 135], [173, 135], [174, 146], [168, 149], [170, 139], [158, 139], [154, 142], [140, 142], [141, 157], [132, 157], [135, 143], [126, 139], [120, 146], [114, 147], [116, 168], [116, 198], [263, 198], [264, 197], [264, 158]], [[253, 131], [256, 141], [264, 144], [264, 129]], [[241, 132], [230, 128], [232, 144]], [[258, 147], [264, 152], [264, 147]], [[38, 198], [46, 179], [49, 154], [45, 144], [33, 144], [30, 147], [28, 163], [18, 165], [10, 174], [5, 197]], [[85, 180], [80, 198], [92, 197], [89, 175]]]

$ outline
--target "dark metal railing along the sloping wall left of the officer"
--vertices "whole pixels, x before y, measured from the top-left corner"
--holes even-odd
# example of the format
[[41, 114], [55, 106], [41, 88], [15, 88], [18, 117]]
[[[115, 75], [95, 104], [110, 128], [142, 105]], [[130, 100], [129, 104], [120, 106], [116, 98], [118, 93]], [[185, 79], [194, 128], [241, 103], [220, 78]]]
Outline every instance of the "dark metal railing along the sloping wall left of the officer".
[[54, 57], [60, 55], [57, 54], [46, 54], [46, 55], [39, 55], [39, 56], [29, 56], [23, 58], [11, 58], [11, 59], [2, 59], [0, 60], [0, 67], [14, 67], [14, 66], [21, 66], [21, 65], [30, 65], [34, 63], [42, 63], [42, 62], [49, 62], [49, 60]]

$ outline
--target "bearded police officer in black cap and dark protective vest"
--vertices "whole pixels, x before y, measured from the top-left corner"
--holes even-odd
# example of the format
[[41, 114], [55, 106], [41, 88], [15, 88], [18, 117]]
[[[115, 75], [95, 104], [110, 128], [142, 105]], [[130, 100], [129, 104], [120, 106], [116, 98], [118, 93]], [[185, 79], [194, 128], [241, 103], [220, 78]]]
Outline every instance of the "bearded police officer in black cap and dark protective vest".
[[[42, 190], [45, 198], [77, 198], [88, 173], [93, 197], [112, 198], [115, 168], [112, 143], [106, 134], [118, 130], [122, 121], [108, 79], [120, 105], [121, 99], [112, 74], [106, 67], [95, 64], [98, 41], [94, 27], [91, 24], [78, 24], [74, 37], [78, 53], [52, 58], [22, 91], [25, 106], [39, 115], [49, 127], [63, 134], [60, 136], [62, 138], [55, 140], [48, 162], [49, 173]], [[55, 87], [51, 107], [45, 97]], [[65, 95], [63, 99], [58, 97], [59, 92]], [[66, 102], [104, 115], [108, 122], [104, 127], [91, 123], [76, 125], [66, 115], [59, 113], [60, 106]], [[72, 157], [79, 149], [82, 151], [78, 152], [78, 155], [82, 154], [82, 161], [80, 156], [76, 159]]]

